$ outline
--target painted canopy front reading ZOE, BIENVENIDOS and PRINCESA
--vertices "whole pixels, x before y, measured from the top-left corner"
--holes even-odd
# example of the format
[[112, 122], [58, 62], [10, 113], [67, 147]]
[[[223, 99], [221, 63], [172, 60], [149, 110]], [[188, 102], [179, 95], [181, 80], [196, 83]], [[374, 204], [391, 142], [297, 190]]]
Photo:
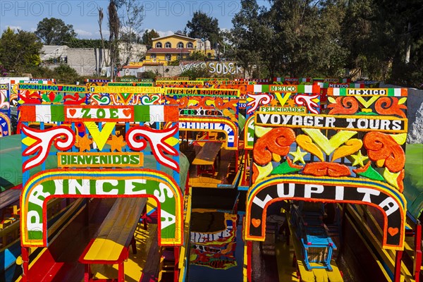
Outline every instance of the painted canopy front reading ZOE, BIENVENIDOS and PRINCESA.
[[[52, 197], [152, 197], [161, 219], [159, 245], [182, 245], [176, 106], [24, 104], [20, 121], [23, 247], [47, 246], [46, 207]], [[157, 121], [173, 125], [166, 129], [144, 125]], [[30, 122], [38, 123], [40, 129], [28, 127]], [[44, 123], [57, 126], [46, 129]], [[116, 128], [118, 123], [125, 124], [124, 132]], [[143, 168], [147, 155], [154, 156], [157, 169]], [[45, 169], [44, 161], [51, 156], [57, 157], [59, 169]], [[29, 178], [37, 166], [42, 172]]]

